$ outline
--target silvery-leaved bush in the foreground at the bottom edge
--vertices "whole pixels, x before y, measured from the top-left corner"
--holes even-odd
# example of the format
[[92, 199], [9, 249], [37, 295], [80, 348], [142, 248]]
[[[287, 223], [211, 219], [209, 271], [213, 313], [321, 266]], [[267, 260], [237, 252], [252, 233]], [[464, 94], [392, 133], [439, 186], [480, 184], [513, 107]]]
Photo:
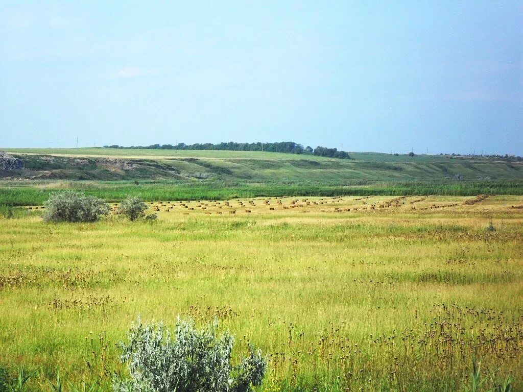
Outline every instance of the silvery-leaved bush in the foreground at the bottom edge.
[[237, 366], [231, 366], [234, 337], [216, 336], [217, 323], [199, 331], [192, 321], [178, 318], [174, 338], [163, 323], [143, 325], [138, 318], [129, 342], [120, 343], [121, 362], [127, 363], [131, 379], [116, 377], [118, 392], [246, 392], [261, 385], [267, 361], [260, 350]]

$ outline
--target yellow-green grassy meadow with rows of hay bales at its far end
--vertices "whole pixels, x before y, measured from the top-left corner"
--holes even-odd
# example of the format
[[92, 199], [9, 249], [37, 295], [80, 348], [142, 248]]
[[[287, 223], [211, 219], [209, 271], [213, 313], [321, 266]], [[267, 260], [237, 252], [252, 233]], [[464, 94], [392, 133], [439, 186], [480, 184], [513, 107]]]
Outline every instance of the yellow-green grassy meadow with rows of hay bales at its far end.
[[137, 315], [180, 315], [218, 317], [235, 358], [260, 347], [264, 391], [463, 390], [473, 356], [521, 389], [523, 197], [148, 205], [154, 222], [0, 218], [0, 365], [109, 390]]

